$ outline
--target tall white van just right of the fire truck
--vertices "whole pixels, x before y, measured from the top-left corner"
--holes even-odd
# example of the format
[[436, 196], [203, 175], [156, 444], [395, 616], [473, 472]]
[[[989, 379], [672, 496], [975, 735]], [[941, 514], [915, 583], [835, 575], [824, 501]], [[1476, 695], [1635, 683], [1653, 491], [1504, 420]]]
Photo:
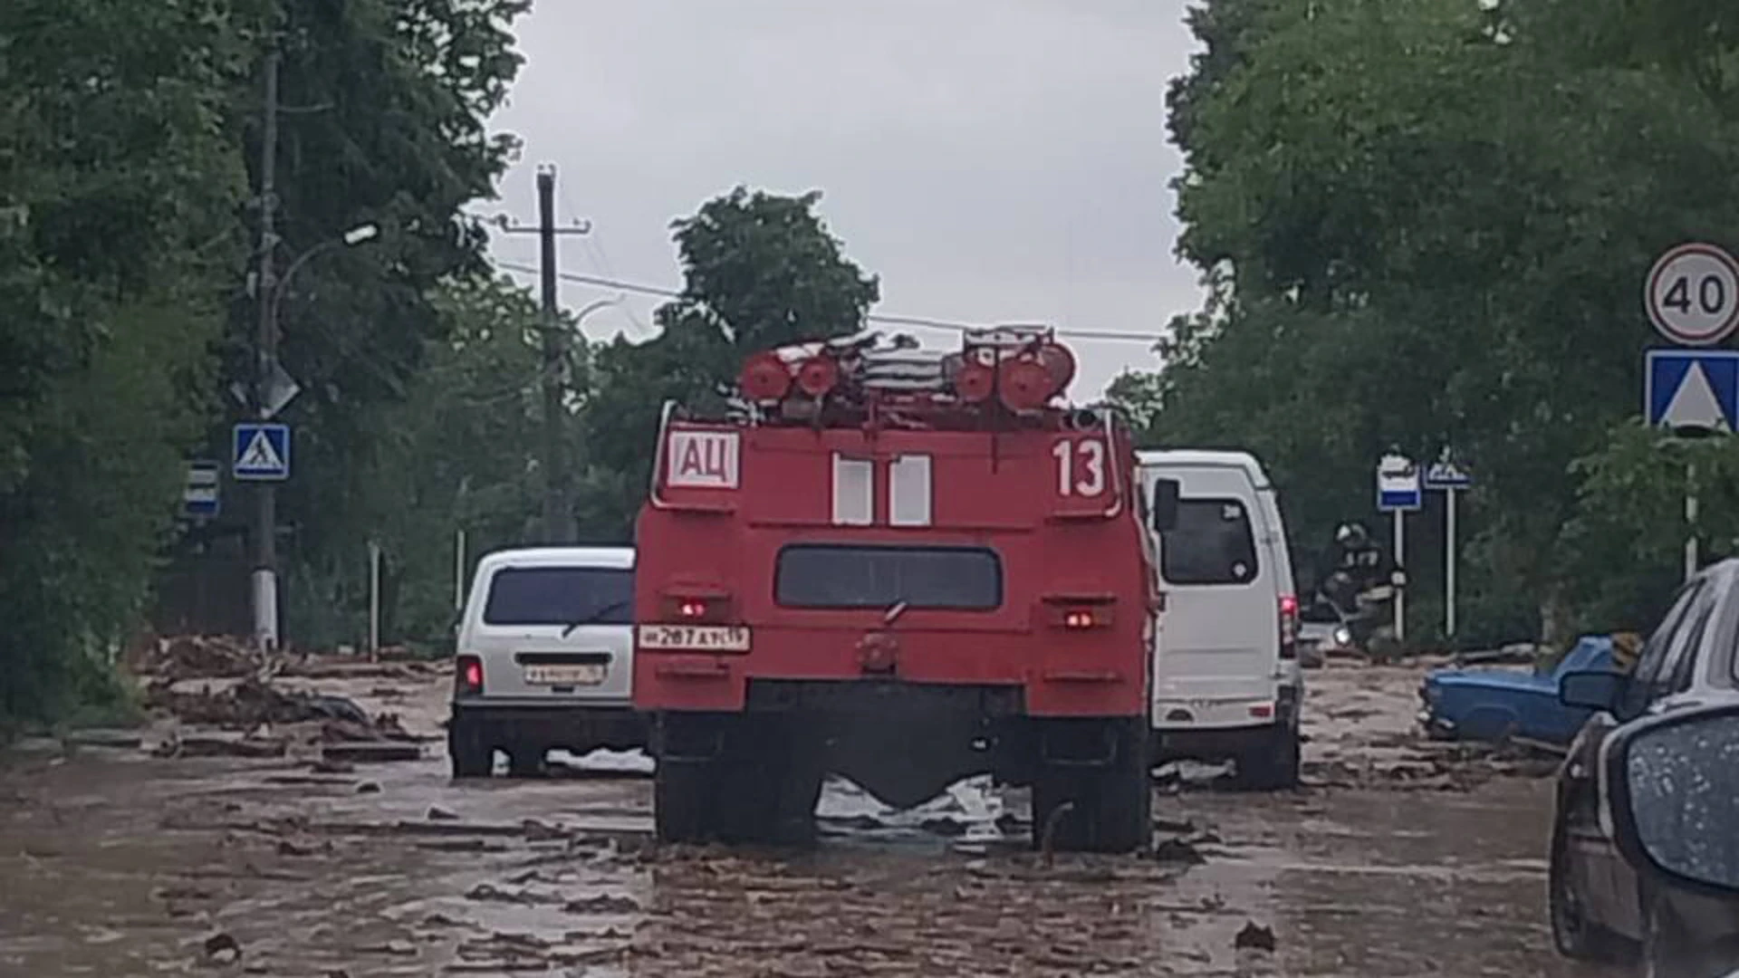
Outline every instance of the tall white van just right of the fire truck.
[[1144, 451], [1139, 463], [1144, 492], [1179, 484], [1158, 539], [1155, 754], [1235, 760], [1250, 787], [1297, 785], [1299, 602], [1275, 487], [1247, 452]]

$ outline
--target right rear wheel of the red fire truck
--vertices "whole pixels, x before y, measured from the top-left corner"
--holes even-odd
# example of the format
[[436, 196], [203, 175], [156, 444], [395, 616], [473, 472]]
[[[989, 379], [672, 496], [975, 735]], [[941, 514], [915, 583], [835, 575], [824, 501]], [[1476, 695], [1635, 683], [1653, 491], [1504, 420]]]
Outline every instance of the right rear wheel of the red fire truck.
[[[1132, 853], [1153, 842], [1146, 722], [1109, 720], [1116, 755], [1104, 767], [1043, 766], [1033, 781], [1033, 844], [1073, 853]], [[1059, 811], [1073, 802], [1073, 807]], [[1054, 823], [1054, 825], [1052, 825]]]

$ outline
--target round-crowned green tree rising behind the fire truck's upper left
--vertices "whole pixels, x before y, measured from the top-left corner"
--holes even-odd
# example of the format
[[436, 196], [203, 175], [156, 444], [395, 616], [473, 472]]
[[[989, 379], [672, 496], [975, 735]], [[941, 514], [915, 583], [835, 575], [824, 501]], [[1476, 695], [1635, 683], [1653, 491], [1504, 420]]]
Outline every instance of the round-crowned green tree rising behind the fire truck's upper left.
[[600, 480], [583, 494], [590, 526], [628, 533], [666, 400], [716, 405], [748, 353], [863, 329], [880, 282], [843, 256], [814, 212], [819, 202], [821, 191], [779, 197], [739, 186], [675, 221], [683, 289], [659, 306], [659, 336], [596, 352], [596, 392], [584, 416], [588, 458], [595, 473], [626, 479]]

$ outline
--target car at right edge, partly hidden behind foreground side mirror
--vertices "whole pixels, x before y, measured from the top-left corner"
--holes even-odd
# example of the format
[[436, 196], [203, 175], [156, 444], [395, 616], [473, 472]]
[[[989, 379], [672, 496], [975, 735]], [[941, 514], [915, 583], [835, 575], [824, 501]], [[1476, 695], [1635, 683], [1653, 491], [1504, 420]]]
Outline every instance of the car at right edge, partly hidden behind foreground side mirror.
[[[1734, 952], [1739, 896], [1685, 886], [1642, 860], [1636, 823], [1624, 809], [1629, 795], [1612, 792], [1609, 776], [1614, 759], [1638, 757], [1636, 743], [1645, 731], [1711, 707], [1739, 707], [1736, 646], [1739, 560], [1723, 560], [1685, 583], [1629, 675], [1584, 670], [1560, 677], [1563, 703], [1595, 712], [1558, 773], [1549, 915], [1562, 954], [1589, 961], [1642, 959], [1649, 975], [1673, 978], [1715, 978], [1739, 968]], [[1706, 727], [1706, 736], [1730, 738], [1734, 731], [1739, 724]], [[1739, 780], [1736, 754], [1739, 747], [1727, 741], [1701, 754], [1702, 764], [1725, 764], [1702, 774], [1720, 778], [1729, 807]], [[1657, 759], [1659, 764], [1664, 762]], [[1624, 811], [1614, 811], [1614, 794]], [[1739, 834], [1730, 814], [1704, 828], [1723, 839]]]

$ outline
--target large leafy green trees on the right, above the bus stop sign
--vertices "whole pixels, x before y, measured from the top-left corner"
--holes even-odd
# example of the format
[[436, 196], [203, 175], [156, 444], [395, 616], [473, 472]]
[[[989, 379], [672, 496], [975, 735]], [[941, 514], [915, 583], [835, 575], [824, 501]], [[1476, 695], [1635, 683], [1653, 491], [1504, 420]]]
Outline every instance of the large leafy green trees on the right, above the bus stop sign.
[[1369, 512], [1377, 454], [1452, 445], [1480, 479], [1471, 576], [1515, 595], [1464, 620], [1511, 628], [1516, 597], [1551, 632], [1659, 590], [1567, 552], [1622, 513], [1591, 473], [1649, 458], [1612, 454], [1643, 271], [1739, 218], [1706, 191], [1739, 165], [1708, 80], [1734, 35], [1668, 63], [1652, 14], [1596, 7], [1605, 47], [1563, 42], [1586, 3], [1216, 0], [1170, 99], [1179, 251], [1212, 299], [1174, 322], [1153, 439], [1257, 451], [1306, 546]]

